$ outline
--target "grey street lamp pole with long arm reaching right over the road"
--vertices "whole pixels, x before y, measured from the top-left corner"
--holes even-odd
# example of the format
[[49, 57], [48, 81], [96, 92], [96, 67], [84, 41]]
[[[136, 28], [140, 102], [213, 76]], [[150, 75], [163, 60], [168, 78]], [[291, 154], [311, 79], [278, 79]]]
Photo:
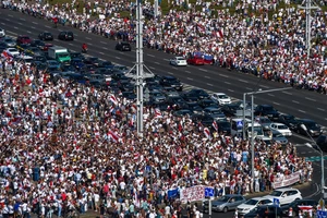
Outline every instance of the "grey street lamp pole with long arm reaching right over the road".
[[[264, 94], [264, 93], [272, 93], [272, 92], [280, 92], [280, 90], [287, 90], [291, 89], [292, 87], [286, 87], [286, 88], [274, 88], [274, 89], [267, 89], [267, 90], [256, 90], [251, 93], [244, 93], [243, 94], [243, 140], [246, 138], [245, 136], [245, 105], [246, 105], [246, 95], [251, 95], [251, 175], [253, 181], [253, 190], [254, 190], [254, 95]], [[247, 137], [249, 138], [249, 137]]]

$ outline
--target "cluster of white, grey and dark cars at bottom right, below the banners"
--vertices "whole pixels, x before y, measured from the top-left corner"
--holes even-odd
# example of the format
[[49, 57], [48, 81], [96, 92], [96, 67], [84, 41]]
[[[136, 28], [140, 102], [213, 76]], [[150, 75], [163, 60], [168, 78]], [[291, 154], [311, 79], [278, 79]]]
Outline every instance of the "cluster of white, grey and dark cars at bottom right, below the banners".
[[[278, 201], [279, 205], [274, 204]], [[203, 211], [208, 213], [209, 201], [203, 202]], [[211, 201], [213, 211], [227, 213], [237, 210], [239, 216], [244, 218], [254, 217], [296, 217], [301, 206], [317, 207], [318, 202], [311, 198], [302, 198], [301, 192], [292, 187], [277, 189], [263, 197], [246, 199], [240, 194], [227, 194]]]

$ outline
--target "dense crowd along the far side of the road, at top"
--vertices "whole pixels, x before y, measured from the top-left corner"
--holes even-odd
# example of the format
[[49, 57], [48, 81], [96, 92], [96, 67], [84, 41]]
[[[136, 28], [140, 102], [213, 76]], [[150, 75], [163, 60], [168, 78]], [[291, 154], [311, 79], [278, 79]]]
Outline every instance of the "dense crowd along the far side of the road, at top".
[[[110, 38], [135, 39], [135, 20], [120, 17], [121, 12], [135, 11], [130, 1], [110, 1], [50, 7], [48, 4], [12, 3], [9, 8], [41, 14], [51, 20], [60, 19], [81, 31], [100, 34]], [[278, 9], [279, 4], [291, 5], [293, 1], [213, 1], [190, 4], [187, 1], [169, 1], [183, 11], [171, 8], [159, 20], [153, 20], [154, 8], [145, 1], [146, 23], [144, 38], [149, 48], [175, 55], [190, 56], [195, 51], [210, 56], [215, 64], [253, 73], [267, 80], [287, 83], [298, 88], [326, 94], [326, 12], [316, 10], [312, 16], [312, 49], [305, 48], [305, 13], [296, 8]], [[299, 3], [299, 2], [298, 2]], [[325, 1], [320, 2], [325, 4]], [[216, 10], [214, 5], [227, 7]], [[195, 7], [202, 5], [202, 11]], [[84, 14], [77, 9], [84, 8]], [[229, 9], [235, 9], [234, 14]], [[159, 8], [160, 11], [160, 8]], [[211, 15], [217, 13], [217, 15]], [[268, 13], [272, 13], [269, 19]], [[102, 14], [100, 19], [94, 14]]]

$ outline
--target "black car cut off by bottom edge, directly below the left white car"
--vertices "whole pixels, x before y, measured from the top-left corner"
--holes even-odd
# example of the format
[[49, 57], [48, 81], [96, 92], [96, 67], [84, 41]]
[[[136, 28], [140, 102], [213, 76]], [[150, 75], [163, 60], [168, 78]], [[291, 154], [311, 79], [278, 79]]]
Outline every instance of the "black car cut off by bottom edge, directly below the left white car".
[[283, 214], [280, 207], [276, 207], [275, 205], [264, 205], [255, 207], [254, 209], [250, 210], [250, 213], [244, 215], [244, 218], [254, 217], [281, 218], [283, 217]]

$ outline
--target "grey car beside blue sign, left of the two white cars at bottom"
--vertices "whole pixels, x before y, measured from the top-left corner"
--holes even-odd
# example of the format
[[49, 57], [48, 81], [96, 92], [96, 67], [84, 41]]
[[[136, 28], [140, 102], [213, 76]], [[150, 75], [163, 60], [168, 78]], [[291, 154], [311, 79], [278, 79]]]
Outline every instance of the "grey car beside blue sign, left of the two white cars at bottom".
[[[227, 213], [229, 210], [234, 210], [241, 204], [246, 202], [245, 197], [240, 194], [227, 194], [221, 196], [220, 198], [211, 201], [211, 209], [213, 211], [223, 211]], [[203, 210], [207, 213], [209, 209], [209, 202], [205, 201], [203, 203]]]

